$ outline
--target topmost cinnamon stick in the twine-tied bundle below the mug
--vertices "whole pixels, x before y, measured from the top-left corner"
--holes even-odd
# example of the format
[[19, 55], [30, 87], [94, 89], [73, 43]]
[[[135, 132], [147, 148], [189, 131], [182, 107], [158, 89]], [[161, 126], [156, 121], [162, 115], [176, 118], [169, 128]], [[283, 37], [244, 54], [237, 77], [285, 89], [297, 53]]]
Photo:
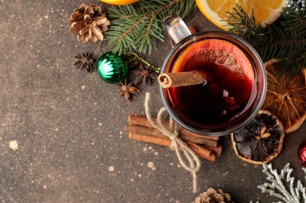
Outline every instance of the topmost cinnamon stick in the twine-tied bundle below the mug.
[[[145, 127], [153, 128], [153, 126], [150, 124], [147, 117], [145, 117], [145, 116], [130, 114], [128, 121], [131, 125], [139, 125], [139, 126], [145, 126]], [[156, 119], [153, 118], [153, 121], [156, 122]], [[163, 124], [169, 127], [169, 121], [168, 120], [164, 120]], [[198, 135], [198, 134], [193, 133], [193, 132], [189, 131], [188, 129], [184, 129], [184, 128], [180, 129], [179, 134], [180, 134], [179, 136], [195, 137], [195, 138], [199, 138], [201, 140], [204, 139], [203, 142], [206, 142], [207, 139], [209, 139], [209, 140], [219, 140], [219, 137]], [[205, 144], [205, 143], [198, 143], [198, 144]], [[216, 146], [214, 144], [212, 147], [216, 147]]]

